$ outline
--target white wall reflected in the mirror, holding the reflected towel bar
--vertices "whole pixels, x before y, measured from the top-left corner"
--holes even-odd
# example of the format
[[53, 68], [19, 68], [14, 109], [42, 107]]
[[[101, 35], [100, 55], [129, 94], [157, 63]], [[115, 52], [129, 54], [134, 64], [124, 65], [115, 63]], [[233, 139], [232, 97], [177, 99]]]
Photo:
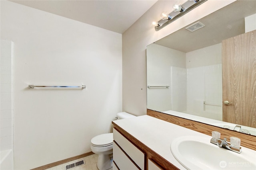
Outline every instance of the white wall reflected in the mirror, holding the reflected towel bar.
[[147, 85], [170, 86], [148, 88], [148, 109], [172, 110], [172, 66], [186, 68], [186, 54], [157, 44], [147, 46]]

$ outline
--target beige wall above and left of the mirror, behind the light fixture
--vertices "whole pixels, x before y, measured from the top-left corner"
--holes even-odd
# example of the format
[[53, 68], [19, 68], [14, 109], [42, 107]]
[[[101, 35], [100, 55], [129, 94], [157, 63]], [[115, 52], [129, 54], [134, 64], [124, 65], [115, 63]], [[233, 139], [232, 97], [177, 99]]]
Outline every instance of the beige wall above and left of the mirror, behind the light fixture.
[[123, 111], [134, 115], [146, 114], [146, 46], [178, 29], [234, 2], [208, 0], [160, 31], [151, 26], [160, 13], [173, 6], [174, 0], [158, 1], [122, 35]]

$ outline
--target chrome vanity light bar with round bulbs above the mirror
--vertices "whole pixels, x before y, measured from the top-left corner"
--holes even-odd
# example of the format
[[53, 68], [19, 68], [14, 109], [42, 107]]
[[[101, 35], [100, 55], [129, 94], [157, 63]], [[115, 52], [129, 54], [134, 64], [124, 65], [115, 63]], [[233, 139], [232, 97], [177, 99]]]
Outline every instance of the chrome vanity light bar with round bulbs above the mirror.
[[206, 1], [207, 0], [188, 0], [182, 5], [175, 4], [171, 13], [168, 14], [166, 11], [162, 12], [161, 20], [152, 22], [152, 25], [154, 25], [155, 30], [158, 31]]

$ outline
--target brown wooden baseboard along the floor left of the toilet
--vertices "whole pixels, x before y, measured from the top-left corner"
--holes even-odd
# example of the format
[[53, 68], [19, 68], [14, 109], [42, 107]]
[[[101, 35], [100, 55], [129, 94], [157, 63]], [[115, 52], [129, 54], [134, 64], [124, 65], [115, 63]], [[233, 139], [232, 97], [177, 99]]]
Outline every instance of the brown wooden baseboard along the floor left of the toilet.
[[58, 165], [61, 165], [61, 164], [64, 164], [64, 163], [67, 163], [67, 162], [70, 162], [70, 161], [73, 161], [73, 160], [77, 160], [77, 159], [80, 159], [80, 158], [83, 158], [85, 156], [89, 156], [89, 155], [92, 155], [92, 154], [94, 154], [94, 152], [88, 152], [88, 153], [80, 154], [78, 156], [73, 156], [71, 158], [67, 158], [67, 159], [64, 159], [64, 160], [53, 162], [53, 163], [50, 163], [50, 164], [47, 164], [47, 165], [44, 165], [44, 166], [40, 166], [38, 168], [34, 168], [34, 169], [31, 169], [31, 170], [45, 170], [45, 169], [52, 168], [54, 166], [58, 166]]

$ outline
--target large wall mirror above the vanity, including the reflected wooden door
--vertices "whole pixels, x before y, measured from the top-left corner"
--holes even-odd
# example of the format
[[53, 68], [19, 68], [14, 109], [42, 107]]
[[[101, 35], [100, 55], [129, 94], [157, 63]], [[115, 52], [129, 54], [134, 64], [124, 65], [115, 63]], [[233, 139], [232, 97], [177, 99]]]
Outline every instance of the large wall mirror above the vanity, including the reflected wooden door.
[[148, 45], [147, 108], [256, 135], [255, 27], [256, 1], [238, 0]]

